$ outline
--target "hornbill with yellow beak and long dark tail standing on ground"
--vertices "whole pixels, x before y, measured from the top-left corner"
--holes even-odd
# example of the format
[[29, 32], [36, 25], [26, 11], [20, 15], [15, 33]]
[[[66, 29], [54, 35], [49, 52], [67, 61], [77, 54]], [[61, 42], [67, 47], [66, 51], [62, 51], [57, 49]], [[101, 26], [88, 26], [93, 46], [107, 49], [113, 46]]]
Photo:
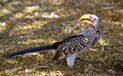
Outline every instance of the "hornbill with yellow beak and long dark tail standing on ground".
[[10, 58], [26, 53], [53, 49], [54, 56], [52, 60], [54, 62], [59, 62], [62, 59], [66, 59], [67, 65], [69, 67], [73, 67], [77, 56], [87, 51], [100, 39], [100, 25], [98, 16], [95, 14], [84, 14], [80, 17], [79, 22], [80, 24], [86, 24], [85, 30], [80, 34], [68, 36], [63, 40], [55, 42], [51, 45], [27, 48], [12, 52], [10, 54], [5, 54], [4, 57]]

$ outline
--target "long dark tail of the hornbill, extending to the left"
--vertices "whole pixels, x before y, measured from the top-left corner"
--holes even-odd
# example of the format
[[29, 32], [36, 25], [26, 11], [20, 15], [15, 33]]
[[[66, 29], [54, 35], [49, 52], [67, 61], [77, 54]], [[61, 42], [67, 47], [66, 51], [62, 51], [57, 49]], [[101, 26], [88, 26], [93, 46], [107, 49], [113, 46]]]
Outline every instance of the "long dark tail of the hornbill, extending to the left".
[[39, 46], [39, 47], [34, 47], [34, 48], [27, 48], [27, 49], [23, 49], [23, 50], [19, 50], [19, 51], [13, 52], [11, 54], [5, 54], [3, 56], [5, 58], [10, 58], [10, 57], [21, 55], [21, 54], [37, 52], [37, 51], [43, 51], [43, 50], [47, 50], [47, 49], [52, 49], [52, 45], [44, 45], [44, 46]]

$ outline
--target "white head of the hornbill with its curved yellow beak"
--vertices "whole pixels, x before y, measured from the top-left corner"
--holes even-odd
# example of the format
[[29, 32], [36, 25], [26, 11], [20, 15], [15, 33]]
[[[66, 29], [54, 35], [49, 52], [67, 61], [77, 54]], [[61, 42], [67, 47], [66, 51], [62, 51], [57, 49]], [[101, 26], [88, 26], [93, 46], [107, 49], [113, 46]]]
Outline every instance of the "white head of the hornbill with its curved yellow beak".
[[80, 17], [81, 23], [89, 24], [93, 29], [98, 28], [99, 18], [94, 14], [84, 14]]

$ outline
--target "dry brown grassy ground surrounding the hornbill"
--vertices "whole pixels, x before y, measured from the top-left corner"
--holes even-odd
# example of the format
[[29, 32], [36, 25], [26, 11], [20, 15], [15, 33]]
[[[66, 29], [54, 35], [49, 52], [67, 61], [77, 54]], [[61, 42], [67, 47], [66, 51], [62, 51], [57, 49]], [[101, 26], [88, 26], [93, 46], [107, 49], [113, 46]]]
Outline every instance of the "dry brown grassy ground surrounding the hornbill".
[[[47, 64], [49, 51], [6, 59], [5, 53], [52, 44], [83, 28], [75, 20], [83, 14], [100, 19], [100, 40], [75, 65]], [[70, 26], [74, 25], [74, 26]], [[0, 0], [0, 76], [122, 76], [123, 1], [122, 0]]]

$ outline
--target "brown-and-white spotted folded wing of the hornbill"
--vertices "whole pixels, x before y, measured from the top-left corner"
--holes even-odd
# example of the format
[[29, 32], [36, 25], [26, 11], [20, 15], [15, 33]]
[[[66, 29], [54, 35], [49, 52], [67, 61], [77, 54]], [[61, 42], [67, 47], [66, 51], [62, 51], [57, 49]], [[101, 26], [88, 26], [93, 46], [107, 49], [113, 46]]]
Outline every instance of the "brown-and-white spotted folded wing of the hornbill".
[[83, 48], [85, 48], [89, 43], [87, 37], [82, 35], [76, 35], [76, 37], [71, 38], [63, 42], [56, 51], [54, 56], [54, 60], [58, 61], [63, 59], [64, 57], [70, 56], [74, 53], [80, 52]]

